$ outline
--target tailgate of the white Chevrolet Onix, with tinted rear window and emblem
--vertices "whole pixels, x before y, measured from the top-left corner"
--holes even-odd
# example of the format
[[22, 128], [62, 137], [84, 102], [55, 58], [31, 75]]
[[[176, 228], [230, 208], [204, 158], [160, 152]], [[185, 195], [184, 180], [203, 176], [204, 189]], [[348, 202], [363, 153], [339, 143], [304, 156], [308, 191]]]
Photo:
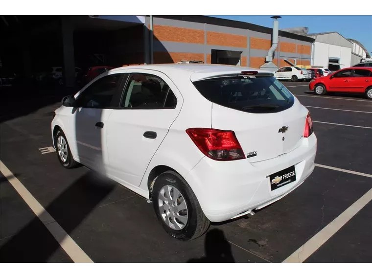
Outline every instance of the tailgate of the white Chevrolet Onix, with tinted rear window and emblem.
[[308, 111], [277, 79], [224, 77], [194, 85], [213, 102], [212, 128], [234, 131], [245, 154], [255, 154], [250, 162], [276, 158], [301, 145]]

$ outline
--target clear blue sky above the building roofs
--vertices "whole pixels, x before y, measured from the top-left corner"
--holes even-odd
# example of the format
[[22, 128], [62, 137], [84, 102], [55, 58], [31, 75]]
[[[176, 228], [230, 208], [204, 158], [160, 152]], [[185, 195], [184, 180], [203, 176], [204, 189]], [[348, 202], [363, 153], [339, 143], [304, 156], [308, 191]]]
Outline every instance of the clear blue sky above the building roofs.
[[[273, 27], [273, 20], [270, 15], [260, 16], [214, 16], [243, 22], [249, 22], [261, 26]], [[283, 15], [279, 19], [280, 28], [308, 27], [309, 33], [339, 32], [347, 39], [354, 39], [361, 42], [368, 51], [372, 51], [372, 16], [347, 16], [347, 15], [326, 15], [326, 16], [290, 16]]]

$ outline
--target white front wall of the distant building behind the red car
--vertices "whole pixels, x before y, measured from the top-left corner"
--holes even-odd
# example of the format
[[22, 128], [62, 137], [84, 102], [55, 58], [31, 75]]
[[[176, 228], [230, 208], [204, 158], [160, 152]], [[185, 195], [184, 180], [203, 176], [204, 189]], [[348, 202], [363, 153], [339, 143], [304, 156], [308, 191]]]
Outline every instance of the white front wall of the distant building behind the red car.
[[329, 59], [340, 59], [341, 69], [351, 66], [351, 47], [315, 42], [314, 65], [328, 67]]

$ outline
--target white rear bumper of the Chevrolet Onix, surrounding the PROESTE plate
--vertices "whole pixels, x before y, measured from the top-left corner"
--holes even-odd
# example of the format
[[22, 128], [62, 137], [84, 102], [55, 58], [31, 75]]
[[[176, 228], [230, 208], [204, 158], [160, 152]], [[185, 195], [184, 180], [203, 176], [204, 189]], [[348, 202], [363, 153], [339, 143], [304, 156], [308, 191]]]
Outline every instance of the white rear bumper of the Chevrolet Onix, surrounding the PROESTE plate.
[[[202, 159], [187, 176], [211, 222], [223, 222], [266, 207], [300, 186], [314, 170], [315, 134], [291, 153], [263, 162]], [[272, 191], [269, 176], [295, 165], [297, 181]]]

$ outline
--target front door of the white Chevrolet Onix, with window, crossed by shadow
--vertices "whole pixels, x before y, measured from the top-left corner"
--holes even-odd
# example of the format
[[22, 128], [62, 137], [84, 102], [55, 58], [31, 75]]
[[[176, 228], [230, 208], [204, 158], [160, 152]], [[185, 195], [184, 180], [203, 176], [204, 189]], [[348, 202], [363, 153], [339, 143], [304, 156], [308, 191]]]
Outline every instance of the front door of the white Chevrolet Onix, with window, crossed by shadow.
[[108, 164], [105, 130], [123, 75], [110, 74], [96, 80], [79, 94], [72, 110], [76, 155], [94, 170], [104, 170]]

